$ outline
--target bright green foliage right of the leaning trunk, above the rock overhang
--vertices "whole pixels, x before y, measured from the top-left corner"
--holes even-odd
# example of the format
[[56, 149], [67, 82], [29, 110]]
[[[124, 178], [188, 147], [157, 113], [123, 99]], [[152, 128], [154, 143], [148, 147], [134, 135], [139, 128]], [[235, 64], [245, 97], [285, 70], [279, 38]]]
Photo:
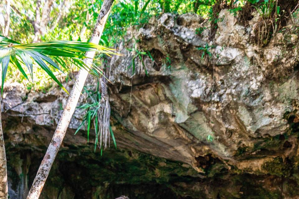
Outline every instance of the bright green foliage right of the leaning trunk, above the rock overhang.
[[[120, 1], [112, 8], [112, 14], [107, 21], [105, 30], [101, 39], [101, 44], [105, 46], [113, 46], [126, 34], [126, 29], [132, 25], [142, 27], [151, 17], [160, 16], [163, 13], [178, 13], [183, 14], [187, 12], [193, 12], [194, 0], [131, 0], [131, 1]], [[212, 4], [211, 4], [212, 5]], [[202, 9], [198, 13], [203, 15], [208, 12], [207, 5], [202, 5]], [[206, 7], [204, 9], [204, 7]], [[111, 35], [114, 35], [111, 38]], [[107, 39], [106, 37], [109, 37]], [[105, 41], [110, 43], [105, 43]]]

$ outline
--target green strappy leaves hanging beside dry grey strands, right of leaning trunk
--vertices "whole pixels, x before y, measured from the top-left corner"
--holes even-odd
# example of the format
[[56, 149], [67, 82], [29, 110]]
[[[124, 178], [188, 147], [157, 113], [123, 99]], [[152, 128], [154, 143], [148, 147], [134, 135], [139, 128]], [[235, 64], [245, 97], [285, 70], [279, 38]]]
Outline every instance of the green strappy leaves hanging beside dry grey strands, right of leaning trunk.
[[[75, 135], [77, 134], [77, 132], [81, 129], [81, 127], [85, 124], [86, 125], [86, 130], [87, 130], [87, 143], [89, 143], [89, 133], [90, 133], [90, 129], [91, 126], [93, 125], [94, 127], [94, 131], [95, 131], [95, 143], [94, 143], [94, 151], [96, 151], [97, 146], [100, 146], [100, 143], [98, 143], [98, 137], [97, 137], [97, 132], [99, 130], [98, 127], [98, 120], [99, 120], [99, 109], [100, 109], [100, 99], [101, 99], [101, 93], [99, 91], [99, 83], [97, 83], [97, 88], [95, 91], [93, 91], [90, 87], [93, 86], [84, 86], [83, 87], [83, 94], [87, 94], [87, 100], [89, 100], [88, 103], [82, 104], [80, 106], [78, 106], [78, 109], [82, 109], [82, 111], [86, 111], [82, 123], [79, 125], [78, 129], [75, 132]], [[112, 137], [114, 146], [116, 148], [116, 140], [112, 131], [112, 128], [110, 126], [110, 135]], [[103, 146], [103, 145], [101, 145]], [[101, 155], [102, 155], [102, 147], [100, 148], [101, 150]]]

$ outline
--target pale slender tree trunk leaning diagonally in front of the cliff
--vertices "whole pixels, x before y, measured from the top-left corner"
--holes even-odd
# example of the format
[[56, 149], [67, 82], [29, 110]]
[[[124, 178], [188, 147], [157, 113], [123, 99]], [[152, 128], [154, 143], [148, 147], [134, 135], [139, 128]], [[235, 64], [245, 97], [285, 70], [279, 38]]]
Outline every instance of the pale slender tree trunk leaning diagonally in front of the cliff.
[[[97, 18], [97, 23], [93, 30], [93, 35], [91, 36], [90, 42], [98, 44], [106, 23], [107, 17], [109, 15], [112, 3], [114, 0], [105, 0], [102, 4], [101, 11]], [[88, 67], [91, 66], [95, 52], [87, 52], [84, 62]], [[55, 160], [58, 153], [59, 147], [65, 136], [65, 132], [69, 126], [69, 122], [75, 111], [76, 105], [78, 103], [81, 91], [83, 89], [85, 80], [88, 76], [88, 71], [85, 69], [80, 69], [77, 79], [74, 83], [73, 90], [69, 96], [67, 104], [64, 107], [62, 116], [59, 120], [55, 133], [53, 135], [52, 141], [47, 149], [44, 159], [40, 164], [40, 168], [37, 171], [36, 177], [33, 181], [32, 187], [29, 191], [27, 199], [37, 199], [40, 196], [40, 192], [44, 187], [45, 181], [49, 175], [51, 166]]]

